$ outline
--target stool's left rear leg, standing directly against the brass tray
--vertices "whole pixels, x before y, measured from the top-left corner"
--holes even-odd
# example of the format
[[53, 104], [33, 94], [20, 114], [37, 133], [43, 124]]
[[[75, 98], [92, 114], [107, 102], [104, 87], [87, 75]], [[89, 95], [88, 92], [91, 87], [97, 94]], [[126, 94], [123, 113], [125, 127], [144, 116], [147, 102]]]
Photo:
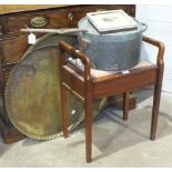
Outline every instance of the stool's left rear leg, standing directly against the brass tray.
[[62, 113], [62, 127], [63, 127], [63, 135], [64, 138], [68, 138], [69, 131], [68, 131], [68, 98], [67, 98], [67, 89], [64, 85], [61, 85], [61, 113]]

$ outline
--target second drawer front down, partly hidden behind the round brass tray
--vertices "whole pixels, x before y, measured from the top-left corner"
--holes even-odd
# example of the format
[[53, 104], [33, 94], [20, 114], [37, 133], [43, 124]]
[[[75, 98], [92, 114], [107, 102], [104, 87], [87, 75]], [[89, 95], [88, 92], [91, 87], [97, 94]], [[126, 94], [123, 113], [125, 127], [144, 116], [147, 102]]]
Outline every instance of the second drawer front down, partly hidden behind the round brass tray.
[[28, 50], [28, 37], [17, 37], [7, 40], [1, 40], [2, 47], [2, 65], [11, 62], [17, 62]]

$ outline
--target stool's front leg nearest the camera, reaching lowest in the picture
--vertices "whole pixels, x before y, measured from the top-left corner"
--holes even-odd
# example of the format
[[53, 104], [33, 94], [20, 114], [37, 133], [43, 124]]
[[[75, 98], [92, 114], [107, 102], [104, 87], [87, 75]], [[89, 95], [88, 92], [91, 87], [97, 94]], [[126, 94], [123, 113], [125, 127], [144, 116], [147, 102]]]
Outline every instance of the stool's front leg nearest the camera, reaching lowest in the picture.
[[85, 99], [85, 152], [87, 162], [92, 161], [92, 99]]

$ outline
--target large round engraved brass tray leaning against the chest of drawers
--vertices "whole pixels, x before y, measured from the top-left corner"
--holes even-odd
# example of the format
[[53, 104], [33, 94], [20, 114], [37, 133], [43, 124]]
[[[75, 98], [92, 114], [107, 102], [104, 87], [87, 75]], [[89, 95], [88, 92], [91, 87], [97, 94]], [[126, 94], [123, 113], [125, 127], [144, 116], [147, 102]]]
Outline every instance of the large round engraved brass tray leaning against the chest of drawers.
[[[50, 140], [62, 134], [59, 85], [59, 41], [78, 45], [77, 37], [49, 34], [41, 38], [13, 68], [6, 87], [6, 108], [12, 124], [23, 134]], [[81, 100], [70, 92], [69, 130], [84, 120]], [[104, 100], [94, 102], [94, 117]]]

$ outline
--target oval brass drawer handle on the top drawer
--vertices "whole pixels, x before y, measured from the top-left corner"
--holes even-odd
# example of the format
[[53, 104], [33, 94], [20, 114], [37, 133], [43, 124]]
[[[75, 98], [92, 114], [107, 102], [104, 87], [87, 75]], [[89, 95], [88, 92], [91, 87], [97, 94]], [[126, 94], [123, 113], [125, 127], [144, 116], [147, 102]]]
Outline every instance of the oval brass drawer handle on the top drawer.
[[47, 26], [47, 23], [48, 23], [48, 19], [45, 19], [44, 17], [36, 17], [36, 18], [32, 18], [30, 21], [30, 24], [33, 28], [42, 28]]

